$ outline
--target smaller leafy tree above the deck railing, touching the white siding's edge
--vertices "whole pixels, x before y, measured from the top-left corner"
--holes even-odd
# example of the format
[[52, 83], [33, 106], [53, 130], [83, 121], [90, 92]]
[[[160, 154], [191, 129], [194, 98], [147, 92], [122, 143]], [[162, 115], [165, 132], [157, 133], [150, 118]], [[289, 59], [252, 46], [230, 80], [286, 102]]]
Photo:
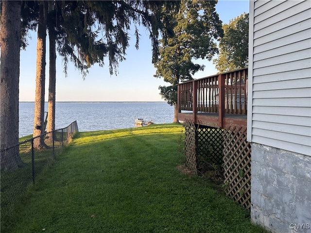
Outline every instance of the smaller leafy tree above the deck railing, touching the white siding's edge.
[[220, 73], [248, 66], [248, 13], [229, 24], [224, 24], [224, 37], [220, 38], [220, 54], [213, 60]]

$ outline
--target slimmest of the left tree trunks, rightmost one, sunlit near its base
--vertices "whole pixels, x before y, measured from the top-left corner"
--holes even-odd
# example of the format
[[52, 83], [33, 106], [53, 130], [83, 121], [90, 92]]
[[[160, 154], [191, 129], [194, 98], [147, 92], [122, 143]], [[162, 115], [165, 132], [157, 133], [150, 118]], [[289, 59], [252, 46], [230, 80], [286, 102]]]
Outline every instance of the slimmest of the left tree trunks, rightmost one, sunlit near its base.
[[47, 132], [55, 130], [55, 94], [56, 94], [56, 41], [54, 31], [49, 27], [50, 43], [50, 73], [49, 73], [49, 100], [48, 100], [48, 127]]

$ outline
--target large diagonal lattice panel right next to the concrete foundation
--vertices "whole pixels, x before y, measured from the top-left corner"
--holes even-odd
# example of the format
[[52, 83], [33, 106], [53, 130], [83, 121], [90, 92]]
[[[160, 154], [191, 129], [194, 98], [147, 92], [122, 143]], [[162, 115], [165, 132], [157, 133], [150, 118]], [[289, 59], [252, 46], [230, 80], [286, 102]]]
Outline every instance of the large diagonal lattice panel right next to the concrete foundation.
[[251, 144], [246, 141], [246, 128], [225, 129], [224, 163], [226, 195], [250, 209]]

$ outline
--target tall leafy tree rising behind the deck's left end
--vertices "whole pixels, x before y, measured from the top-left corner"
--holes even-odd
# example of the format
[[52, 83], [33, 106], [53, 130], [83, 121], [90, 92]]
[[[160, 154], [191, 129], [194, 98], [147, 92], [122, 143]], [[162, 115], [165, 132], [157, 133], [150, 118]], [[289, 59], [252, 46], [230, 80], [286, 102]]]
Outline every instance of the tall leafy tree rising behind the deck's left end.
[[192, 80], [192, 75], [204, 69], [193, 59], [211, 60], [218, 52], [215, 39], [222, 36], [222, 21], [215, 12], [217, 1], [182, 0], [180, 8], [163, 9], [164, 16], [173, 23], [174, 36], [161, 40], [159, 60], [155, 63], [156, 78], [164, 78], [170, 86], [160, 86], [162, 98], [174, 105], [174, 122], [177, 118], [176, 84]]

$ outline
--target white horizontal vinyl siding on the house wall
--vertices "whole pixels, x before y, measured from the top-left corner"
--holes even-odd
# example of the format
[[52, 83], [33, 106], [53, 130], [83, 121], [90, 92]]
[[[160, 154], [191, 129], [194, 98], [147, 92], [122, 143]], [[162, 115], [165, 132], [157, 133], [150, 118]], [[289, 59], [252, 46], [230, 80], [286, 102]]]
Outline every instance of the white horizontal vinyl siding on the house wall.
[[249, 29], [247, 139], [311, 156], [311, 1], [251, 1]]

